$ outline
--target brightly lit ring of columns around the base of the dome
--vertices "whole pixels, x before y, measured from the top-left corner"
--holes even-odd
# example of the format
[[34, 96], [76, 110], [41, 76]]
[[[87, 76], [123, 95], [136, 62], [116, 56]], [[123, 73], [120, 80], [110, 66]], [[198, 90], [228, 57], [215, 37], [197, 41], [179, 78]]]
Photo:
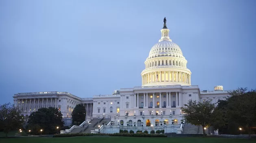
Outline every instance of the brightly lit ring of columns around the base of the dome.
[[142, 75], [142, 85], [153, 82], [183, 82], [191, 84], [191, 75], [180, 71], [155, 71]]

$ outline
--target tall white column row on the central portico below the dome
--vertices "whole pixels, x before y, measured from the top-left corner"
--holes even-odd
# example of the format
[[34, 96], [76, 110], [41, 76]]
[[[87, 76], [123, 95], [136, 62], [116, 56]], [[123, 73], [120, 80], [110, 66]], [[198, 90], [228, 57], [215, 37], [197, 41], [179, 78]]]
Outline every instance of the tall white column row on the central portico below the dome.
[[[174, 107], [181, 107], [182, 105], [182, 95], [179, 93], [179, 92], [175, 92], [175, 97], [171, 97], [171, 93], [173, 92], [167, 92], [165, 95], [166, 95], [166, 98], [162, 98], [162, 96], [164, 95], [163, 93], [159, 93], [159, 107], [171, 107], [171, 99], [172, 98], [175, 98], [175, 106]], [[141, 95], [143, 94], [143, 95]], [[153, 97], [153, 105], [152, 105], [152, 108], [155, 108], [156, 107], [156, 93], [150, 93]], [[143, 108], [148, 108], [148, 107], [151, 107], [149, 102], [148, 102], [148, 99], [149, 99], [149, 93], [135, 93], [134, 94], [134, 108], [139, 108], [141, 106], [139, 106], [139, 97], [140, 96], [143, 96]], [[157, 95], [158, 96], [158, 95]], [[163, 100], [163, 101], [162, 101]], [[166, 106], [163, 106], [163, 102], [166, 102]]]

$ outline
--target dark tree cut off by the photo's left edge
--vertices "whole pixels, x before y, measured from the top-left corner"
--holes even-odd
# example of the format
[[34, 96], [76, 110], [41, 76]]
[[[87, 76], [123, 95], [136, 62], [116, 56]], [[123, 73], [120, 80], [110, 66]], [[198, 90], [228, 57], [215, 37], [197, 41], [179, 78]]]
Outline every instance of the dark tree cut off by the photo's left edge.
[[24, 116], [14, 105], [0, 105], [0, 130], [4, 131], [6, 137], [9, 131], [22, 128], [23, 123]]

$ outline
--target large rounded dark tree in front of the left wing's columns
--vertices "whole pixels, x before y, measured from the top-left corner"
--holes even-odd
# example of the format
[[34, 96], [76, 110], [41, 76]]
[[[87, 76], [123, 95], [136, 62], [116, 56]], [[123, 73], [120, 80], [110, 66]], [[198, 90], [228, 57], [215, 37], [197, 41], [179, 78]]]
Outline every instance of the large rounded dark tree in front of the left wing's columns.
[[59, 128], [63, 127], [62, 114], [57, 108], [40, 108], [28, 116], [27, 130], [31, 130], [30, 134], [39, 135], [42, 129], [42, 134], [51, 135], [58, 133]]

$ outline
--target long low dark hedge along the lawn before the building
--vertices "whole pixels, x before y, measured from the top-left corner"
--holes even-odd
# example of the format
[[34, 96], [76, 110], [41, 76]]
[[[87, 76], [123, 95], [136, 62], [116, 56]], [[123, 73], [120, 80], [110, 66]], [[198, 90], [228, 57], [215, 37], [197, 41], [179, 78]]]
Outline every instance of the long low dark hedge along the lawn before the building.
[[53, 137], [76, 137], [76, 136], [167, 137], [164, 134], [127, 134], [127, 133], [113, 133], [113, 134], [65, 133], [65, 134], [54, 134]]

